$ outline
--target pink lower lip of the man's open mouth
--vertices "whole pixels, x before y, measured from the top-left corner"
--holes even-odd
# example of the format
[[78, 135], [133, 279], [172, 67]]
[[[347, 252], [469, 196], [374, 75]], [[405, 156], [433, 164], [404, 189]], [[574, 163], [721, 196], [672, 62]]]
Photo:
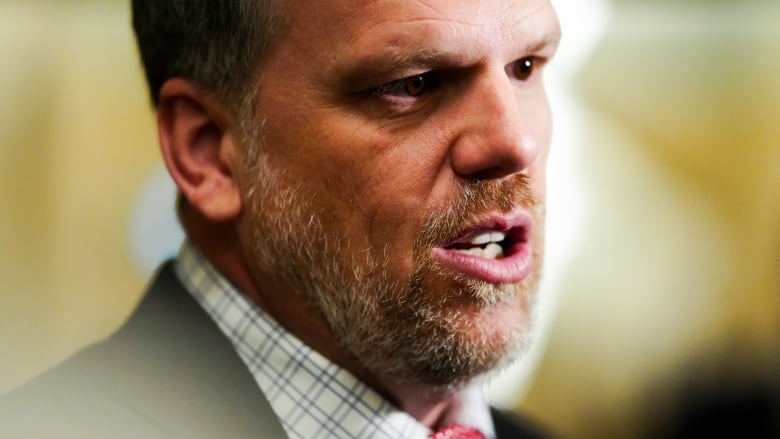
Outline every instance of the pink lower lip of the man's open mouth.
[[501, 259], [480, 258], [445, 248], [433, 249], [434, 257], [442, 266], [470, 278], [489, 283], [517, 283], [531, 273], [533, 255], [528, 242], [519, 242], [507, 249]]

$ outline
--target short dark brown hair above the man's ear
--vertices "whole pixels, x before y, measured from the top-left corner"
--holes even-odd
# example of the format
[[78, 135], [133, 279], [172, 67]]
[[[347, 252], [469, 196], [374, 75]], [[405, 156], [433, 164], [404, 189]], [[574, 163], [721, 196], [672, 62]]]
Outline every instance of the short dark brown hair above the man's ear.
[[133, 29], [152, 102], [181, 77], [240, 112], [284, 24], [279, 0], [132, 0]]

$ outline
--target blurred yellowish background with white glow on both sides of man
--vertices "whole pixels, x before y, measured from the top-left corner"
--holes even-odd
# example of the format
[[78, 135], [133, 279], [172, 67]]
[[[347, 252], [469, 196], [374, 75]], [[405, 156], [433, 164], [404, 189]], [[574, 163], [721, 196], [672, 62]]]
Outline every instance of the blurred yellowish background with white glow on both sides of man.
[[[780, 3], [554, 3], [539, 342], [497, 400], [564, 438], [780, 437]], [[181, 239], [128, 9], [0, 0], [0, 393]]]

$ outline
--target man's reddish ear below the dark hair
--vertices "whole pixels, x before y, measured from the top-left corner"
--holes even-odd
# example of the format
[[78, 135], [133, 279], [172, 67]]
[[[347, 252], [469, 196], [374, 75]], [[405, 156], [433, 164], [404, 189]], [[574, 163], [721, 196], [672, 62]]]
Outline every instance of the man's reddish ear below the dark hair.
[[230, 113], [192, 83], [172, 79], [160, 90], [157, 125], [168, 172], [189, 204], [211, 221], [236, 218], [241, 193]]

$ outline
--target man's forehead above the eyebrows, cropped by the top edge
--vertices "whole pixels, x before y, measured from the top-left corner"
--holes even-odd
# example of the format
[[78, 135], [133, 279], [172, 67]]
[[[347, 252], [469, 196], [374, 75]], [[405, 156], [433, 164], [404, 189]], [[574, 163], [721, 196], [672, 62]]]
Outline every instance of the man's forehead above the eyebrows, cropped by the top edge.
[[309, 50], [334, 50], [334, 58], [442, 42], [468, 56], [559, 34], [549, 0], [297, 0], [289, 7], [288, 36]]

